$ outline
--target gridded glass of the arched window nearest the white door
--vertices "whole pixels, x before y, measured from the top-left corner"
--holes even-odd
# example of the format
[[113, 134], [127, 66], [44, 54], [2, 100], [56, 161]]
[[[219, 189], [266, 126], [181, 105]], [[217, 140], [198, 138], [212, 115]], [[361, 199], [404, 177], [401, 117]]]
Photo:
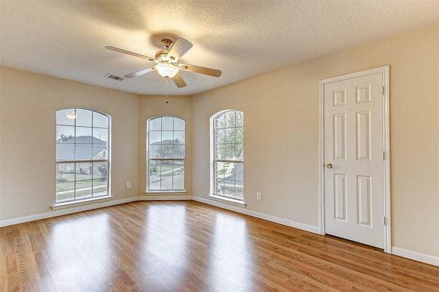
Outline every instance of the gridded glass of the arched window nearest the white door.
[[244, 201], [244, 112], [214, 117], [213, 147], [214, 195]]

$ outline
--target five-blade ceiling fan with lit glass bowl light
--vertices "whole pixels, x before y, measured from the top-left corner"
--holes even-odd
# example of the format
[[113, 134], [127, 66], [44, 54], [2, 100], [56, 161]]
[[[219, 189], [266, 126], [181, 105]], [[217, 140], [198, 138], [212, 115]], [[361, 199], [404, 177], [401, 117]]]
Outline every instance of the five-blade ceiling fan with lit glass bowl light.
[[125, 53], [126, 55], [142, 58], [150, 62], [156, 63], [145, 69], [141, 69], [139, 71], [125, 75], [125, 77], [127, 78], [137, 77], [146, 73], [150, 73], [152, 71], [157, 71], [158, 74], [165, 77], [166, 79], [171, 78], [172, 81], [174, 81], [174, 83], [176, 84], [176, 86], [178, 88], [181, 88], [186, 86], [186, 82], [181, 77], [180, 70], [189, 71], [193, 73], [200, 73], [213, 77], [221, 76], [221, 71], [217, 69], [180, 63], [180, 58], [185, 53], [187, 53], [187, 51], [189, 51], [189, 49], [191, 49], [191, 47], [193, 46], [192, 43], [189, 42], [189, 40], [185, 40], [185, 38], [178, 38], [174, 43], [172, 42], [172, 40], [164, 39], [162, 40], [162, 44], [165, 49], [161, 49], [157, 51], [155, 58], [144, 56], [141, 55], [140, 53], [134, 53], [132, 51], [119, 49], [117, 47], [107, 46], [105, 48], [109, 49], [110, 51]]

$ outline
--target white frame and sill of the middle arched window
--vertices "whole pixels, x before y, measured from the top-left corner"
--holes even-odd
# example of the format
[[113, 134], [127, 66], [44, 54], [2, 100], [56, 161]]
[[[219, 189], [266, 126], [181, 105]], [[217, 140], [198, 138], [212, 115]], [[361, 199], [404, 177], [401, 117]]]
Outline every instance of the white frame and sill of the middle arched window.
[[[180, 119], [181, 121], [183, 121], [185, 123], [185, 143], [183, 144], [185, 147], [185, 158], [150, 158], [150, 121], [154, 120], [154, 119], [158, 119], [158, 118], [163, 118], [163, 117], [171, 117], [171, 118], [176, 118], [176, 119]], [[163, 132], [164, 130], [162, 129], [161, 132]], [[166, 130], [165, 130], [166, 131]], [[172, 129], [172, 132], [174, 132], [174, 128]], [[178, 131], [178, 130], [177, 130]], [[174, 115], [170, 115], [170, 114], [163, 114], [160, 116], [155, 116], [155, 117], [151, 117], [150, 119], [146, 120], [146, 147], [145, 147], [146, 151], [146, 186], [145, 186], [145, 192], [143, 192], [145, 195], [186, 195], [187, 191], [186, 191], [186, 120], [182, 119], [181, 117], [177, 117]], [[171, 189], [151, 189], [150, 188], [150, 160], [182, 160], [184, 162], [184, 170], [185, 170], [185, 177], [183, 179], [183, 188], [171, 188]]]

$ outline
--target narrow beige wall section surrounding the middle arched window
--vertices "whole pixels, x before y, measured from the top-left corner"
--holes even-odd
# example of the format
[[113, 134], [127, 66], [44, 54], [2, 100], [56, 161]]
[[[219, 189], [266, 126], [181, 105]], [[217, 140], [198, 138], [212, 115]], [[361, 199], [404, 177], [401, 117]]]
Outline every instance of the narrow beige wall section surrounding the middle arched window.
[[[147, 120], [158, 116], [174, 116], [185, 120], [186, 157], [185, 188], [192, 195], [192, 97], [141, 96], [139, 99], [139, 191], [146, 191], [146, 125]], [[165, 194], [164, 194], [165, 195]]]

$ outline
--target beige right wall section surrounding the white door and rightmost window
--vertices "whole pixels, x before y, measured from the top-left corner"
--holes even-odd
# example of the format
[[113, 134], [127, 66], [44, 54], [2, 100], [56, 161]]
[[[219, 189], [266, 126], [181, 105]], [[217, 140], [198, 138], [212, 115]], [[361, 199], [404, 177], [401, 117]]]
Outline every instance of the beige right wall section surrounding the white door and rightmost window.
[[318, 226], [319, 80], [384, 65], [392, 246], [438, 257], [439, 23], [196, 95], [193, 195], [209, 195], [209, 117], [234, 108], [244, 112], [246, 210]]

